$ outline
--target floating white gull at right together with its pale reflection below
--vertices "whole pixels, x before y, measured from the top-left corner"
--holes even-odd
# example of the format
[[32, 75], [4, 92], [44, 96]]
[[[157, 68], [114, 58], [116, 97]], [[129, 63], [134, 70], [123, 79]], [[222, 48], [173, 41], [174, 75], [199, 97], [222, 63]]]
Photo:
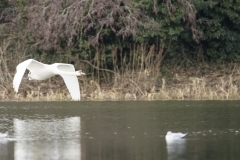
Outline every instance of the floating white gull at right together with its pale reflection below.
[[165, 136], [167, 142], [168, 160], [184, 159], [186, 150], [186, 134], [168, 132]]

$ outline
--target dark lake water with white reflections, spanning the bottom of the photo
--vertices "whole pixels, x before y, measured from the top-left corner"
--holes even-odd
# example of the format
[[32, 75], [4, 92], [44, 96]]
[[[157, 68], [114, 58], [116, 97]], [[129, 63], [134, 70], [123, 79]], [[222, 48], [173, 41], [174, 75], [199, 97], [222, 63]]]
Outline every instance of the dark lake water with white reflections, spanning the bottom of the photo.
[[[1, 160], [240, 159], [240, 101], [1, 102]], [[168, 131], [188, 133], [166, 140]]]

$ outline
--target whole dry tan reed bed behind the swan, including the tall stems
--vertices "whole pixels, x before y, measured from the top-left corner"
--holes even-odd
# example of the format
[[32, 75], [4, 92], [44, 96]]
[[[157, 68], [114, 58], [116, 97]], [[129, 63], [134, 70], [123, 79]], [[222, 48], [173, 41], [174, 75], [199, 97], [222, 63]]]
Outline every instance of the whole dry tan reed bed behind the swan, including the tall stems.
[[[9, 43], [0, 44], [8, 48]], [[22, 47], [16, 44], [17, 50]], [[11, 46], [13, 47], [13, 46]], [[188, 61], [188, 57], [164, 59], [170, 46], [132, 44], [130, 50], [115, 46], [96, 48], [88, 60], [78, 55], [56, 54], [53, 62], [75, 62], [76, 68], [88, 71], [79, 77], [83, 100], [231, 100], [239, 99], [240, 67]], [[9, 48], [10, 49], [10, 48]], [[2, 101], [69, 101], [70, 94], [60, 76], [45, 81], [22, 81], [19, 93], [12, 88], [15, 67], [26, 59], [26, 49], [16, 58], [14, 49], [4, 50], [0, 64], [0, 100]], [[111, 50], [111, 56], [106, 52]], [[46, 60], [45, 54], [38, 59]], [[32, 56], [37, 56], [36, 54]], [[190, 57], [191, 58], [191, 57]], [[11, 61], [7, 61], [11, 59]], [[164, 61], [163, 61], [164, 60]], [[8, 63], [7, 63], [8, 62]], [[112, 62], [109, 68], [109, 62]]]

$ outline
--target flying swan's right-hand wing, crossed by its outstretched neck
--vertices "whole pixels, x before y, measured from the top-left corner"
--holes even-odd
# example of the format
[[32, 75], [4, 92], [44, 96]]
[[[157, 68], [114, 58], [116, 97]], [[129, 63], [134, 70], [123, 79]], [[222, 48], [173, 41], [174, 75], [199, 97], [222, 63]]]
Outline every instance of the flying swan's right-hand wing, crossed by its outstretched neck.
[[[57, 68], [59, 70], [67, 71], [67, 72], [75, 72], [75, 68], [71, 64], [58, 64]], [[61, 75], [62, 76], [71, 96], [72, 99], [75, 101], [80, 100], [80, 88], [77, 76], [70, 76], [70, 75]]]

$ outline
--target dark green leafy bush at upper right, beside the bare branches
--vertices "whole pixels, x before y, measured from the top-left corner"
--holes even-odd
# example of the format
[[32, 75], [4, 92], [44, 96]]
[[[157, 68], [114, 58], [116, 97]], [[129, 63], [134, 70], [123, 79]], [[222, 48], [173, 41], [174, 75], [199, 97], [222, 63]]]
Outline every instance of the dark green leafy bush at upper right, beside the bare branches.
[[[170, 55], [173, 57], [179, 57], [184, 52], [191, 60], [239, 60], [239, 1], [139, 2], [144, 2], [148, 15], [160, 24], [157, 36], [165, 43], [172, 43]], [[147, 42], [154, 40], [156, 37], [149, 38]]]

